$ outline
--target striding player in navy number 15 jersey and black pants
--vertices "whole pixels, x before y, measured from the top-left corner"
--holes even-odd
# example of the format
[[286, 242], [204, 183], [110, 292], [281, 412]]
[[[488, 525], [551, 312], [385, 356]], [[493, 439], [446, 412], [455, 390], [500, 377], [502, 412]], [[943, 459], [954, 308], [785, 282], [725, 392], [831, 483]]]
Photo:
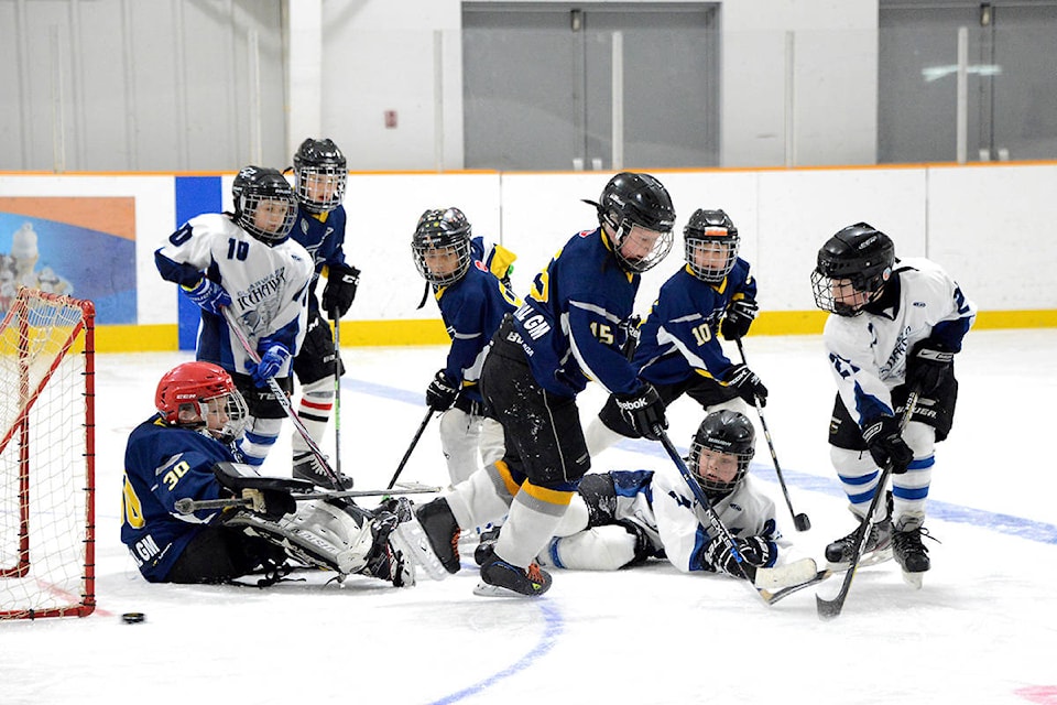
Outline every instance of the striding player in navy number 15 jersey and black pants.
[[[458, 535], [508, 514], [481, 565], [480, 595], [544, 594], [544, 549], [590, 468], [577, 394], [589, 379], [617, 394], [639, 432], [666, 427], [664, 404], [621, 351], [641, 272], [672, 248], [675, 209], [649, 174], [620, 173], [602, 189], [599, 227], [562, 248], [492, 338], [481, 376], [503, 425], [505, 455], [424, 505], [417, 519], [449, 573]], [[508, 513], [509, 512], [509, 513]]]

